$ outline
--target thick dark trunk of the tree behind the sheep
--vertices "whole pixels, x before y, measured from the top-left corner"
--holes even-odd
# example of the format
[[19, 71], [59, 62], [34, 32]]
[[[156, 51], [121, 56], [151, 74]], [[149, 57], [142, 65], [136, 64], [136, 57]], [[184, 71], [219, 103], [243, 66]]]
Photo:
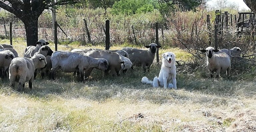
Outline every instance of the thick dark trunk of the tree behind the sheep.
[[36, 46], [38, 41], [38, 18], [26, 19], [23, 21], [26, 29], [27, 46]]

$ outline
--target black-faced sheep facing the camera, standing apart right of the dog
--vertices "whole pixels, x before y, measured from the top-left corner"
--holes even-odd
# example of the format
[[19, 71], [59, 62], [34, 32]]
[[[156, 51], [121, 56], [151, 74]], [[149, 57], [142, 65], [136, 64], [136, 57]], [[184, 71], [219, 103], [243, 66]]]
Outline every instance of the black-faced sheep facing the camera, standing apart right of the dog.
[[213, 72], [216, 72], [216, 77], [218, 78], [221, 71], [226, 71], [227, 76], [230, 75], [231, 61], [230, 57], [226, 53], [218, 53], [219, 50], [214, 50], [212, 47], [207, 47], [201, 52], [206, 54], [206, 66], [211, 72], [210, 77], [213, 77]]

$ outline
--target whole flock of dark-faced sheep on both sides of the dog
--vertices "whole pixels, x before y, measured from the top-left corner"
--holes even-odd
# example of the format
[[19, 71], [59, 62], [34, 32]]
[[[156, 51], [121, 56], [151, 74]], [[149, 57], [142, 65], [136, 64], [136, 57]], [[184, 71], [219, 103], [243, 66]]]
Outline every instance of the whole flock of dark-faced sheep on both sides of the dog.
[[[105, 74], [113, 76], [120, 75], [120, 72], [127, 72], [133, 66], [142, 66], [144, 72], [150, 70], [155, 54], [161, 46], [154, 43], [145, 46], [148, 50], [136, 48], [123, 48], [121, 50], [101, 50], [101, 49], [73, 49], [72, 51], [53, 52], [45, 40], [39, 40], [36, 46], [28, 46], [24, 51], [24, 57], [19, 57], [18, 53], [11, 45], [0, 45], [0, 75], [7, 77], [12, 87], [18, 83], [18, 91], [24, 89], [25, 82], [32, 82], [36, 78], [37, 72], [42, 78], [48, 75], [50, 79], [55, 78], [58, 69], [63, 72], [73, 72], [79, 80], [89, 77], [93, 68], [103, 70]], [[216, 72], [217, 77], [220, 71], [230, 72], [230, 55], [240, 56], [241, 49], [214, 50], [208, 47], [201, 52], [206, 53], [207, 66], [211, 72]]]

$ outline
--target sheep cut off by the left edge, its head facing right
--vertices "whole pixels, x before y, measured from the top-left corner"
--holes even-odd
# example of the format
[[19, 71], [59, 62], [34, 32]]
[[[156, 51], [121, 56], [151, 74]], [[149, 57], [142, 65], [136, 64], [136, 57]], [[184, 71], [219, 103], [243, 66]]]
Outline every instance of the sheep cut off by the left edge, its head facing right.
[[9, 50], [5, 50], [5, 51], [1, 51], [0, 52], [0, 74], [2, 75], [2, 77], [4, 77], [6, 75], [6, 69], [10, 66], [12, 59], [15, 58], [14, 54], [9, 51]]

